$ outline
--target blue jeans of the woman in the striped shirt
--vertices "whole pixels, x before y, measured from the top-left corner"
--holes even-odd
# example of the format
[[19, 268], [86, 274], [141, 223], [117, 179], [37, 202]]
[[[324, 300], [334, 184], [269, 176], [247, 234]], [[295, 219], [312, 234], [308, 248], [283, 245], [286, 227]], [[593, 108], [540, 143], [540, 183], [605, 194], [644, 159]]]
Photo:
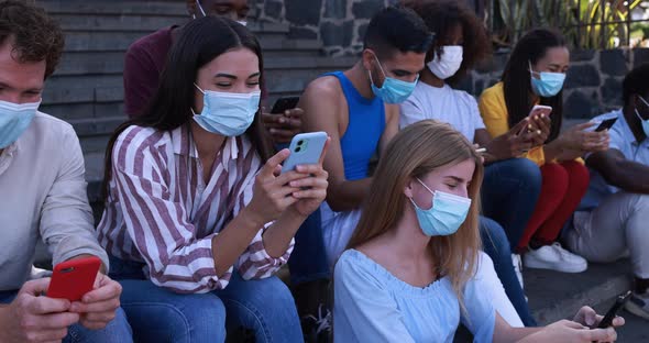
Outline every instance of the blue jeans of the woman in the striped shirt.
[[182, 295], [145, 279], [140, 263], [110, 265], [136, 342], [223, 342], [226, 328], [249, 329], [255, 342], [304, 340], [293, 296], [275, 276], [244, 280], [233, 272], [226, 289]]

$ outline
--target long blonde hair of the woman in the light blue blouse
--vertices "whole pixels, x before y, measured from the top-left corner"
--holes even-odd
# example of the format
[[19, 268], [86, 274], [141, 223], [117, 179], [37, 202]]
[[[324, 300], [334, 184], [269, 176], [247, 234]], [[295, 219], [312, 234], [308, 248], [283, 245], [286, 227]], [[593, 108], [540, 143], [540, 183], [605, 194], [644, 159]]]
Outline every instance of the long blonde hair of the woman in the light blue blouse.
[[457, 233], [433, 236], [430, 241], [439, 277], [449, 277], [462, 309], [462, 289], [475, 273], [481, 247], [477, 223], [483, 166], [474, 146], [450, 125], [424, 120], [404, 129], [392, 140], [378, 162], [361, 220], [348, 245], [348, 248], [358, 247], [397, 225], [404, 207], [411, 206], [404, 195], [409, 180], [466, 159], [475, 161], [469, 186], [472, 203], [466, 220]]

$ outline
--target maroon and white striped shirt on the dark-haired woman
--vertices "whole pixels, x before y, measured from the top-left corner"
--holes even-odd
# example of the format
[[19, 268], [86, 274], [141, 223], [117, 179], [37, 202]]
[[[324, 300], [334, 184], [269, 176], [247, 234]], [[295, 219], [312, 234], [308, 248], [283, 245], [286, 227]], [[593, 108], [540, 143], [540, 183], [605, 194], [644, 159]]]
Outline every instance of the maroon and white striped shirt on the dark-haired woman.
[[[145, 275], [157, 286], [189, 294], [223, 289], [232, 268], [217, 277], [211, 239], [251, 201], [261, 167], [245, 136], [229, 137], [205, 185], [188, 126], [173, 131], [130, 126], [112, 151], [99, 242], [112, 256], [145, 263]], [[282, 257], [271, 257], [263, 231], [260, 228], [234, 265], [244, 279], [273, 275], [293, 251], [292, 241]]]

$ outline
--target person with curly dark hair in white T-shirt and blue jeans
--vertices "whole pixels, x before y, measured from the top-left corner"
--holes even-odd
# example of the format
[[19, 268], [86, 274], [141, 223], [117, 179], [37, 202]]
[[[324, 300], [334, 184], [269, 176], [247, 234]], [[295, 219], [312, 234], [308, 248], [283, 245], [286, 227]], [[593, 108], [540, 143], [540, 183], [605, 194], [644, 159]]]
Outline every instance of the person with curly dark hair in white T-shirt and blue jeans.
[[[409, 0], [406, 5], [419, 13], [436, 34], [436, 44], [428, 53], [427, 68], [421, 71], [417, 88], [402, 104], [400, 128], [435, 119], [451, 124], [470, 142], [487, 148], [482, 189], [485, 217], [480, 217], [480, 229], [484, 251], [494, 261], [506, 294], [505, 299], [496, 302], [505, 307], [499, 309], [501, 314], [512, 325], [536, 325], [522, 292], [522, 278], [516, 273], [518, 265], [512, 263], [518, 256], [512, 255], [515, 243], [510, 242], [522, 233], [531, 215], [540, 189], [540, 173], [534, 163], [510, 158], [514, 156], [506, 153], [522, 141], [507, 140], [507, 135], [492, 140], [475, 98], [452, 87], [490, 55], [486, 30], [475, 13], [459, 1]], [[510, 308], [507, 298], [515, 311], [507, 311], [506, 307]]]

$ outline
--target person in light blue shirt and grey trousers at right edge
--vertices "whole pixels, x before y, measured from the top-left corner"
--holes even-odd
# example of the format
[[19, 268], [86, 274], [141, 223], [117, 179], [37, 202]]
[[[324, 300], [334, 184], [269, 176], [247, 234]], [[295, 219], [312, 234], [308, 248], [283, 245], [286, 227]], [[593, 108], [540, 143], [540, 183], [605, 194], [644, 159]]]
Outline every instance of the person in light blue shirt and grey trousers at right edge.
[[591, 182], [563, 232], [571, 250], [592, 262], [630, 256], [635, 289], [626, 308], [649, 320], [649, 64], [623, 82], [624, 107], [594, 119], [617, 118], [608, 151], [586, 156]]

